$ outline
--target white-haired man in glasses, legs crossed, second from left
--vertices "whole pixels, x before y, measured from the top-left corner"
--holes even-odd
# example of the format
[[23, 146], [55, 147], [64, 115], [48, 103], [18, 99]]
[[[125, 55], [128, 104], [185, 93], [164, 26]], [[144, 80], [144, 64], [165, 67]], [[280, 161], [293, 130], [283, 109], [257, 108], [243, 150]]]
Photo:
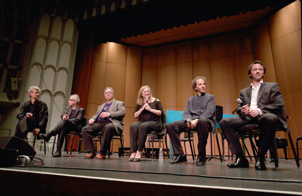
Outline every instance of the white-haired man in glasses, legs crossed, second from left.
[[61, 115], [62, 120], [47, 134], [39, 134], [45, 141], [49, 141], [51, 136], [59, 135], [57, 142], [57, 150], [53, 157], [61, 157], [61, 148], [64, 143], [64, 138], [70, 131], [79, 131], [81, 133], [82, 118], [85, 110], [79, 107], [79, 95], [71, 95], [68, 100], [68, 107]]

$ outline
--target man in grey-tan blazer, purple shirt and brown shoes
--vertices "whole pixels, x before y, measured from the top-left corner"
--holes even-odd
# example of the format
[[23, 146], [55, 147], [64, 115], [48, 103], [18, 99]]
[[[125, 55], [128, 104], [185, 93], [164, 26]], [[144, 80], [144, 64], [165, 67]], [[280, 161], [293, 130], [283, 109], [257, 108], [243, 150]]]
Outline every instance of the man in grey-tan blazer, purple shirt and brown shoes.
[[[111, 87], [105, 88], [104, 96], [106, 103], [98, 107], [95, 115], [88, 121], [89, 125], [82, 128], [84, 151], [88, 153], [85, 159], [105, 159], [113, 134], [121, 135], [124, 130], [125, 103], [114, 99]], [[102, 142], [100, 152], [96, 155], [92, 139], [98, 136], [99, 132], [102, 132]]]

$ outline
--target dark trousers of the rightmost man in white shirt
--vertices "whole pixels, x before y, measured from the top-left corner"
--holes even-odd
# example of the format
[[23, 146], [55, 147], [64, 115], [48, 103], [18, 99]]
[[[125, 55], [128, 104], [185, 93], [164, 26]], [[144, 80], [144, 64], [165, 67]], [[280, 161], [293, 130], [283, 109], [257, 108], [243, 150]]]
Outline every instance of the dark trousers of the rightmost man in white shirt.
[[278, 118], [272, 113], [265, 113], [255, 118], [230, 117], [223, 118], [219, 125], [229, 144], [232, 154], [243, 154], [237, 131], [240, 127], [250, 124], [258, 124], [260, 127], [258, 153], [264, 156], [274, 141]]

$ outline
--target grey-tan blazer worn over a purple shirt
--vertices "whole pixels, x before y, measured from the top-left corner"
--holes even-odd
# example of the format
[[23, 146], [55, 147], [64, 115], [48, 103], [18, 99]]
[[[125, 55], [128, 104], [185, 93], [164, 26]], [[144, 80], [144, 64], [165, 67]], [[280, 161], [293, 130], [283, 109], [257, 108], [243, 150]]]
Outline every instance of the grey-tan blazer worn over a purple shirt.
[[[104, 109], [105, 105], [106, 103], [103, 103], [98, 107], [98, 110], [96, 111], [95, 115], [93, 115], [93, 117], [91, 118], [94, 120], [94, 122], [97, 121], [98, 115]], [[114, 99], [108, 112], [111, 114], [111, 118], [108, 119], [114, 124], [116, 132], [119, 135], [122, 135], [124, 130], [123, 118], [126, 114], [125, 103]]]

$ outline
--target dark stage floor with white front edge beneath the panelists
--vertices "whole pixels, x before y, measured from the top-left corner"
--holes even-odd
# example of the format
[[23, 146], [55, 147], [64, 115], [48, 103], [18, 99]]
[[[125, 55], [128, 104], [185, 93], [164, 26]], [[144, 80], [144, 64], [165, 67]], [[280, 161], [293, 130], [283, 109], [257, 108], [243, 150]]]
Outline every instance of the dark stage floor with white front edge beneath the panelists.
[[[283, 161], [280, 162], [279, 171], [275, 171], [274, 163], [267, 163], [266, 171], [257, 171], [254, 168], [255, 161], [250, 162], [250, 168], [227, 168], [226, 164], [233, 161], [220, 163], [219, 160], [214, 159], [207, 161], [205, 166], [196, 166], [191, 156], [188, 156], [187, 163], [175, 165], [169, 164], [168, 158], [165, 158], [163, 163], [159, 163], [157, 159], [152, 161], [151, 158], [142, 158], [140, 162], [128, 162], [128, 157], [118, 158], [117, 155], [111, 155], [110, 159], [105, 160], [83, 159], [84, 154], [76, 154], [76, 152], [73, 152], [71, 157], [63, 152], [62, 157], [54, 158], [44, 155], [43, 151], [38, 151], [36, 157], [43, 159], [43, 166], [0, 168], [1, 178], [3, 179], [3, 175], [5, 175], [8, 177], [8, 181], [11, 181], [10, 183], [1, 182], [1, 184], [9, 186], [14, 181], [10, 178], [20, 176], [22, 173], [24, 176], [32, 175], [31, 178], [44, 174], [47, 175], [45, 178], [49, 178], [50, 175], [56, 176], [55, 179], [58, 179], [59, 176], [68, 176], [69, 179], [74, 178], [75, 181], [79, 181], [79, 179], [107, 180], [113, 187], [112, 192], [116, 191], [114, 184], [120, 187], [120, 183], [127, 182], [130, 183], [130, 187], [131, 183], [146, 184], [146, 187], [153, 188], [158, 187], [157, 185], [177, 187], [177, 190], [180, 191], [179, 194], [182, 194], [182, 188], [186, 187], [189, 190], [197, 190], [196, 188], [209, 190], [211, 195], [215, 195], [219, 190], [225, 193], [223, 195], [239, 193], [239, 191], [246, 191], [251, 195], [263, 194], [263, 192], [272, 195], [302, 195], [302, 170], [297, 169], [296, 164]], [[85, 187], [85, 182], [83, 183], [80, 186]], [[47, 191], [47, 187], [44, 188], [44, 191]], [[125, 188], [123, 189], [125, 190]], [[131, 188], [129, 189], [131, 190]], [[9, 190], [8, 187], [4, 193], [7, 194]], [[213, 192], [213, 190], [215, 191]], [[149, 190], [143, 191], [146, 191], [146, 194], [144, 192], [139, 194], [150, 194]], [[169, 191], [167, 192], [169, 193]], [[52, 194], [57, 193], [73, 194], [68, 191], [53, 192]]]

